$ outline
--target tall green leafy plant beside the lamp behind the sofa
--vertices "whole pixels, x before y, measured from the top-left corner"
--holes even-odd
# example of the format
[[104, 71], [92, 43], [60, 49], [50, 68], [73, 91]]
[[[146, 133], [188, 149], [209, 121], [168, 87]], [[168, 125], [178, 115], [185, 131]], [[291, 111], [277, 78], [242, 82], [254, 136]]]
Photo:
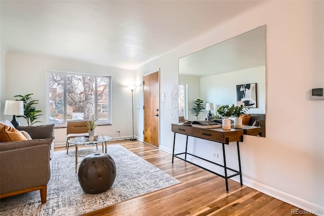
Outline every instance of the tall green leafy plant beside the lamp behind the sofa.
[[15, 95], [14, 97], [21, 97], [19, 100], [23, 101], [24, 103], [24, 115], [21, 116], [17, 116], [17, 117], [23, 117], [26, 119], [28, 126], [33, 125], [37, 122], [41, 122], [41, 121], [37, 121], [37, 119], [39, 119], [38, 116], [42, 116], [43, 114], [39, 114], [42, 113], [42, 110], [36, 110], [36, 107], [34, 106], [34, 104], [37, 104], [39, 100], [30, 100], [31, 97], [30, 95], [33, 94], [26, 94], [26, 95]]

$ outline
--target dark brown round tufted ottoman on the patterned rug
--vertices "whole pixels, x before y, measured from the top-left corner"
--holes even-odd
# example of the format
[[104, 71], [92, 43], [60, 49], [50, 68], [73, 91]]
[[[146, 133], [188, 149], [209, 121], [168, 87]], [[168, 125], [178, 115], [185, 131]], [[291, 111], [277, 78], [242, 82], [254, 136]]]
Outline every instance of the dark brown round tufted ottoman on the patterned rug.
[[108, 190], [116, 177], [116, 165], [110, 155], [93, 153], [80, 163], [78, 180], [82, 190], [88, 194], [98, 194]]

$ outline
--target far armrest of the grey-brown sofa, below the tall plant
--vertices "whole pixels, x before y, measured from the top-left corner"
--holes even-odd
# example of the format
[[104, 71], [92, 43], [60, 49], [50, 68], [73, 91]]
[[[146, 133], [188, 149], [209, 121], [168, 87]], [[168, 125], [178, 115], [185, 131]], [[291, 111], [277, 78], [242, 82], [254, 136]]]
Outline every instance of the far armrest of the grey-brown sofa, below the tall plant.
[[37, 126], [17, 126], [17, 129], [26, 131], [33, 139], [54, 139], [54, 126], [55, 124]]

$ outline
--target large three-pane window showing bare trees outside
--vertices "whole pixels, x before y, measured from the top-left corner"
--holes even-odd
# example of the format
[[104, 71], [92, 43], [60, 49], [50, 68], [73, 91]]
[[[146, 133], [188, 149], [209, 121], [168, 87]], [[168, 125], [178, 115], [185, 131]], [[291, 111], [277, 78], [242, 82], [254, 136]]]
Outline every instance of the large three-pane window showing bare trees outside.
[[111, 77], [48, 71], [48, 87], [50, 124], [93, 116], [98, 124], [111, 124]]

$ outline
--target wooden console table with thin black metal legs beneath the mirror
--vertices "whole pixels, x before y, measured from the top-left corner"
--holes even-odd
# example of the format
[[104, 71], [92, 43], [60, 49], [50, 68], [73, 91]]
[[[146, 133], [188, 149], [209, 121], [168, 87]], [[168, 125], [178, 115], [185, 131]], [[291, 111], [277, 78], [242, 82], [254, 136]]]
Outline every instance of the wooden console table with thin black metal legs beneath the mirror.
[[[239, 141], [243, 141], [243, 134], [249, 134], [251, 133], [257, 133], [255, 130], [258, 131], [258, 129], [255, 129], [256, 127], [253, 128], [242, 128], [242, 129], [222, 129], [222, 128], [209, 128], [209, 129], [205, 129], [205, 128], [196, 128], [196, 127], [191, 127], [191, 126], [185, 126], [182, 125], [182, 123], [179, 124], [172, 124], [172, 132], [174, 132], [174, 139], [173, 139], [173, 152], [172, 152], [172, 164], [173, 164], [173, 160], [174, 157], [179, 158], [181, 160], [184, 160], [188, 163], [191, 163], [195, 166], [198, 166], [202, 169], [205, 169], [207, 171], [210, 171], [220, 177], [225, 178], [225, 185], [226, 185], [226, 192], [228, 192], [228, 179], [231, 177], [234, 177], [236, 175], [239, 175], [239, 179], [240, 179], [240, 184], [241, 186], [242, 184], [242, 171], [241, 171], [241, 161], [240, 161], [240, 156], [239, 156]], [[261, 129], [260, 129], [261, 130]], [[178, 154], [174, 154], [174, 149], [175, 149], [175, 142], [176, 142], [176, 134], [184, 134], [187, 136], [186, 139], [186, 150], [183, 153], [178, 153]], [[252, 135], [252, 134], [251, 134]], [[215, 163], [213, 161], [207, 160], [205, 158], [201, 158], [198, 157], [196, 155], [190, 154], [187, 152], [187, 146], [188, 146], [188, 136], [192, 136], [192, 137], [197, 137], [200, 139], [207, 139], [207, 140], [211, 140], [211, 141], [215, 141], [215, 142], [219, 142], [222, 144], [223, 147], [223, 158], [224, 158], [224, 165], [222, 164], [218, 164]], [[238, 158], [238, 168], [239, 170], [234, 170], [231, 169], [229, 167], [226, 166], [226, 157], [225, 157], [225, 144], [229, 145], [230, 142], [235, 142], [236, 141], [236, 145], [237, 145], [237, 158]], [[179, 155], [183, 155], [184, 154], [184, 158], [179, 157]], [[217, 166], [221, 166], [224, 168], [224, 173], [225, 175], [221, 175], [219, 173], [216, 173], [212, 170], [209, 170], [205, 167], [199, 166], [191, 161], [187, 160], [187, 155], [191, 155], [193, 157], [199, 158], [201, 160], [210, 162], [212, 164], [215, 164]], [[234, 174], [232, 175], [227, 175], [227, 170], [231, 170], [234, 172]]]

